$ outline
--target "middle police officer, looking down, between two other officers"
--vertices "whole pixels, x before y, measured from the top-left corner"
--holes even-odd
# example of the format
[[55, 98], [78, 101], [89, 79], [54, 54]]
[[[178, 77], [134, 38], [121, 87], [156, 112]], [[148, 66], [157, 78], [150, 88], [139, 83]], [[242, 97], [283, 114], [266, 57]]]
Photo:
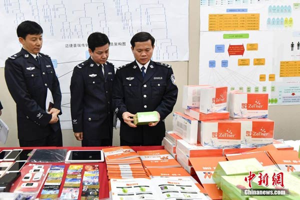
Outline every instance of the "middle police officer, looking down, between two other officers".
[[105, 34], [93, 32], [87, 43], [90, 57], [74, 67], [70, 84], [74, 136], [82, 146], [111, 146], [114, 66], [107, 61], [110, 42]]

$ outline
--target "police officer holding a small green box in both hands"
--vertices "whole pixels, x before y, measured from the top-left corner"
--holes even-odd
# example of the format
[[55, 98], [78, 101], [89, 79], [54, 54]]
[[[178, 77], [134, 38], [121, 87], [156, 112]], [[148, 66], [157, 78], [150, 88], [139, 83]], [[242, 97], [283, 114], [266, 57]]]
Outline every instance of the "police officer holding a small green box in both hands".
[[[112, 102], [120, 119], [120, 145], [161, 145], [164, 118], [172, 111], [178, 88], [170, 65], [151, 60], [155, 39], [148, 32], [131, 38], [135, 61], [116, 71]], [[156, 111], [160, 120], [134, 125], [136, 112]]]

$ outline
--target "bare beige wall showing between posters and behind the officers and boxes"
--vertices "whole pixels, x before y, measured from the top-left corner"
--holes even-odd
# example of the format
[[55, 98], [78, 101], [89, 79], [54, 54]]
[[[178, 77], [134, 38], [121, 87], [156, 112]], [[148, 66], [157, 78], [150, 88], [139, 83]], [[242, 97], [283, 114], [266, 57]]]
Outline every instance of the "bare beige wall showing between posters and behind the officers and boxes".
[[[189, 61], [167, 62], [172, 65], [176, 84], [179, 89], [177, 102], [174, 111], [183, 111], [182, 103], [182, 86], [185, 84], [198, 84], [199, 74], [199, 0], [189, 0]], [[180, 33], [180, 28], [178, 28]], [[17, 38], [16, 38], [17, 39]], [[130, 50], [130, 49], [128, 49]], [[18, 49], [15, 50], [17, 52]], [[11, 54], [15, 53], [11, 52]], [[4, 63], [0, 63], [4, 65]], [[6, 144], [0, 146], [18, 146], [17, 128], [16, 128], [16, 111], [15, 103], [11, 98], [4, 80], [4, 68], [0, 68], [0, 101], [3, 105], [2, 115], [0, 116], [9, 126], [9, 135]], [[300, 139], [298, 130], [300, 129], [300, 105], [283, 105], [270, 106], [269, 118], [275, 121], [275, 138], [283, 139]], [[172, 114], [165, 122], [166, 129], [171, 130]], [[72, 130], [63, 130], [64, 146], [80, 146]], [[119, 129], [113, 131], [113, 145], [119, 145]]]

